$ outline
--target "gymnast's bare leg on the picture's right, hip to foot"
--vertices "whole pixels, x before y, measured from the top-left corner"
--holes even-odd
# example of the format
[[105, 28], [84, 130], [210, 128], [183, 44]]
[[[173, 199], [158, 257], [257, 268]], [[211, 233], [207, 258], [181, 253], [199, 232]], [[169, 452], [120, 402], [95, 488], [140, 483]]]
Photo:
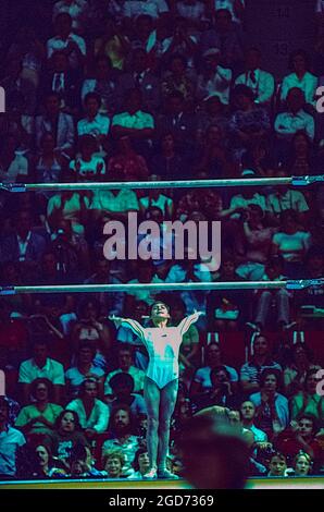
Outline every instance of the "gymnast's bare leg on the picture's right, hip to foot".
[[159, 448], [158, 448], [158, 476], [173, 477], [166, 471], [166, 455], [170, 442], [170, 422], [173, 414], [178, 390], [178, 379], [172, 380], [160, 390], [159, 414]]

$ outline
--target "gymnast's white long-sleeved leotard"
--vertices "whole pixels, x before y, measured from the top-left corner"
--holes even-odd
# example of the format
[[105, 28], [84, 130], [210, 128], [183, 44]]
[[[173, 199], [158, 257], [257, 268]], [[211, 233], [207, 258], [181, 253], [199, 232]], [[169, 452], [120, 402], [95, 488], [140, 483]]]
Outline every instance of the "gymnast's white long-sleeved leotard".
[[184, 318], [177, 327], [142, 327], [138, 321], [126, 318], [122, 325], [128, 325], [146, 345], [149, 355], [147, 377], [162, 389], [178, 378], [178, 355], [183, 336], [199, 314]]

